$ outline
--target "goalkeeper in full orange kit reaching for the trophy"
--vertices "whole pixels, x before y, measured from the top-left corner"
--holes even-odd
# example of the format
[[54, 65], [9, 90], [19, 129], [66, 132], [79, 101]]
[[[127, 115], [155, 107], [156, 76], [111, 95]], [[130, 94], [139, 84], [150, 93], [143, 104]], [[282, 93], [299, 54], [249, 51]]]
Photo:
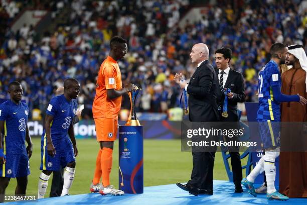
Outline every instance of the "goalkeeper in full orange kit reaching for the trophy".
[[[97, 78], [96, 95], [93, 102], [93, 117], [100, 150], [96, 159], [91, 192], [122, 195], [123, 191], [110, 185], [112, 153], [117, 134], [117, 119], [121, 106], [121, 96], [135, 89], [134, 85], [122, 88], [121, 73], [117, 61], [127, 53], [126, 40], [115, 36], [110, 41], [109, 56], [100, 66]], [[102, 176], [102, 183], [100, 178]]]

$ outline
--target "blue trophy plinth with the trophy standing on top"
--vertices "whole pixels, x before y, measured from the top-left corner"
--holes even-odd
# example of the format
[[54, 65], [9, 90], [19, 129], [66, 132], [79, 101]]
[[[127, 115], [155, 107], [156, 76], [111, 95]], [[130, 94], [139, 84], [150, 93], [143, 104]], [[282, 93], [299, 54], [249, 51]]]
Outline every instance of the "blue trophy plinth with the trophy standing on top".
[[130, 115], [125, 126], [118, 129], [118, 187], [125, 193], [143, 193], [143, 126], [135, 114], [135, 99], [141, 89], [128, 92]]

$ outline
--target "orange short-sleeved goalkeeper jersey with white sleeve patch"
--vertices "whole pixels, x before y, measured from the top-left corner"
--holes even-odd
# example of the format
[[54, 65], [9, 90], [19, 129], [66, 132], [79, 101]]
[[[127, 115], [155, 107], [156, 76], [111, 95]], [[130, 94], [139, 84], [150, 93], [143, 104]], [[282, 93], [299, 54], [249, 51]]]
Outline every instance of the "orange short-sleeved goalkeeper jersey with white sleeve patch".
[[96, 95], [93, 102], [94, 118], [112, 118], [117, 120], [121, 106], [121, 96], [107, 98], [107, 89], [121, 89], [121, 73], [117, 62], [110, 56], [105, 59], [99, 69], [96, 83]]

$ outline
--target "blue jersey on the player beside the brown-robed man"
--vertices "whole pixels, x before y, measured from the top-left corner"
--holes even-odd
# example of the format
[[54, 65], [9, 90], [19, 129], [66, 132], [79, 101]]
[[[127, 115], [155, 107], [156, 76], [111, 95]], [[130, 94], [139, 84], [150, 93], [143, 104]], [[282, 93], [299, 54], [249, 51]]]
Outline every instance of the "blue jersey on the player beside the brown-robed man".
[[280, 103], [274, 100], [272, 86], [281, 86], [280, 72], [274, 61], [269, 61], [259, 72], [257, 111], [258, 121], [280, 121]]

